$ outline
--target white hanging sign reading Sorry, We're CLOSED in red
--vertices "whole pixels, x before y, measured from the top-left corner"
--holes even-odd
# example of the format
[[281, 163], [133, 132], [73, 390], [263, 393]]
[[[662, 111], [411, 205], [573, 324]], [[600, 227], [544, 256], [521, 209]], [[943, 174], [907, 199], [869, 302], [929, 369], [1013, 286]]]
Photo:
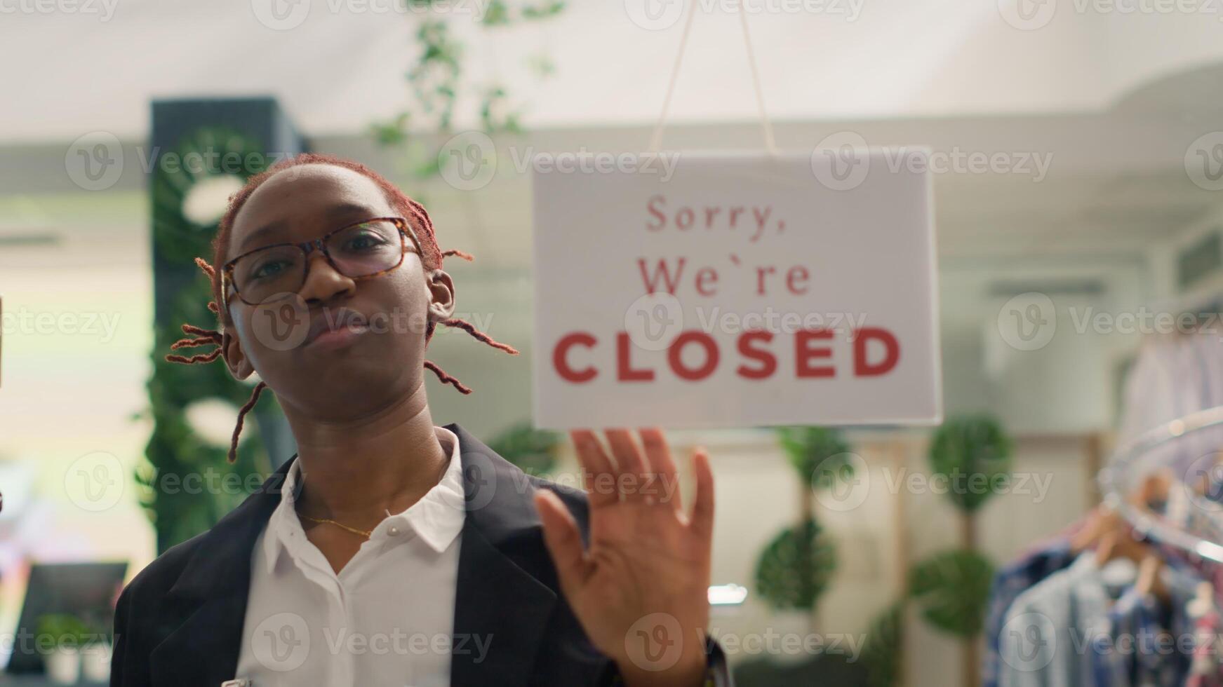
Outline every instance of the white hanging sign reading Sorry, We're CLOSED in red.
[[940, 422], [927, 159], [537, 159], [536, 424]]

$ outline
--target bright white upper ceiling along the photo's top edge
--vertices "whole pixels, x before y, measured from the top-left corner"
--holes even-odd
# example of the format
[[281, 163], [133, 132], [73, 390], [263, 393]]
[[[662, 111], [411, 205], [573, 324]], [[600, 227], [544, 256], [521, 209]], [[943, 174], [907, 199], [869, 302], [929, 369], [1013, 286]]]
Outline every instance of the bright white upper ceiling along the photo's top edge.
[[[476, 89], [499, 83], [525, 105], [531, 128], [654, 121], [684, 22], [674, 12], [643, 21], [649, 2], [697, 7], [671, 120], [757, 116], [735, 1], [577, 0], [549, 21], [486, 29], [472, 10], [488, 1], [433, 2], [454, 7], [434, 16], [467, 43], [460, 98], [468, 104]], [[1223, 57], [1208, 12], [1058, 4], [1063, 11], [1032, 27], [1015, 26], [1018, 0], [741, 1], [767, 109], [783, 121], [1098, 111], [1136, 84]], [[274, 2], [291, 7], [294, 21], [269, 21]], [[139, 139], [150, 99], [212, 94], [270, 94], [303, 131], [352, 134], [411, 100], [402, 75], [421, 17], [400, 11], [402, 0], [12, 5], [0, 60], [22, 65], [5, 73], [21, 106], [0, 109], [0, 141], [92, 131]], [[541, 56], [555, 67], [547, 78], [531, 67]], [[1218, 90], [1196, 93], [1217, 100]]]

